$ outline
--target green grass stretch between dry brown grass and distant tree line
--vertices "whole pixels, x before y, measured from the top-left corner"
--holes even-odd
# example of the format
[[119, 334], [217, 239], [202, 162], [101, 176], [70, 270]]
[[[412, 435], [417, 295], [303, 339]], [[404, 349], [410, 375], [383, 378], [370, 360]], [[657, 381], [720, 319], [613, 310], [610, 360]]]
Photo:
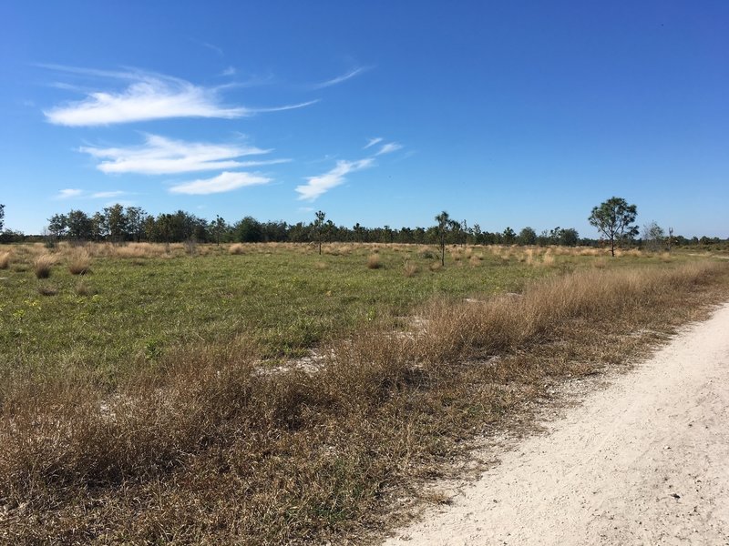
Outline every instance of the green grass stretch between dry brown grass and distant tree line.
[[[381, 248], [383, 267], [367, 268], [369, 249], [319, 256], [313, 248], [266, 246], [243, 255], [216, 252], [173, 258], [94, 258], [78, 277], [62, 264], [49, 279], [8, 270], [0, 281], [0, 368], [94, 370], [109, 378], [154, 362], [172, 346], [238, 336], [269, 358], [302, 355], [325, 339], [373, 320], [394, 322], [434, 296], [466, 298], [519, 291], [549, 273], [488, 252], [478, 267], [434, 260], [416, 248]], [[406, 260], [421, 266], [407, 278]], [[56, 295], [39, 288], [51, 285]], [[95, 292], [95, 293], [94, 293]]]

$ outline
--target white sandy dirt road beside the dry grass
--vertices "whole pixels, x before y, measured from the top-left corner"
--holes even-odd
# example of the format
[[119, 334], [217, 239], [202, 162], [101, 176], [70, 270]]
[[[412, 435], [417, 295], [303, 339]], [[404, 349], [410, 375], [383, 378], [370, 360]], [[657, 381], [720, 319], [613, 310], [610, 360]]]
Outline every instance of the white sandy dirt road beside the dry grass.
[[729, 303], [609, 382], [385, 544], [729, 545]]

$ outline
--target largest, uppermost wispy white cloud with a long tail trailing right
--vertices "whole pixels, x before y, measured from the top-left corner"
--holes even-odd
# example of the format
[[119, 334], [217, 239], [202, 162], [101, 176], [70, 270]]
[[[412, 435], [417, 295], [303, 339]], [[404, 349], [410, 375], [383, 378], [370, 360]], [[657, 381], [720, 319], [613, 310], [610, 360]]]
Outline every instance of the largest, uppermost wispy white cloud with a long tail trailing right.
[[262, 112], [301, 108], [316, 102], [264, 108], [225, 106], [221, 103], [218, 88], [196, 86], [176, 77], [143, 71], [114, 72], [67, 66], [48, 67], [82, 76], [127, 82], [123, 90], [87, 93], [83, 100], [44, 111], [49, 122], [62, 126], [99, 126], [169, 117], [232, 119]]

